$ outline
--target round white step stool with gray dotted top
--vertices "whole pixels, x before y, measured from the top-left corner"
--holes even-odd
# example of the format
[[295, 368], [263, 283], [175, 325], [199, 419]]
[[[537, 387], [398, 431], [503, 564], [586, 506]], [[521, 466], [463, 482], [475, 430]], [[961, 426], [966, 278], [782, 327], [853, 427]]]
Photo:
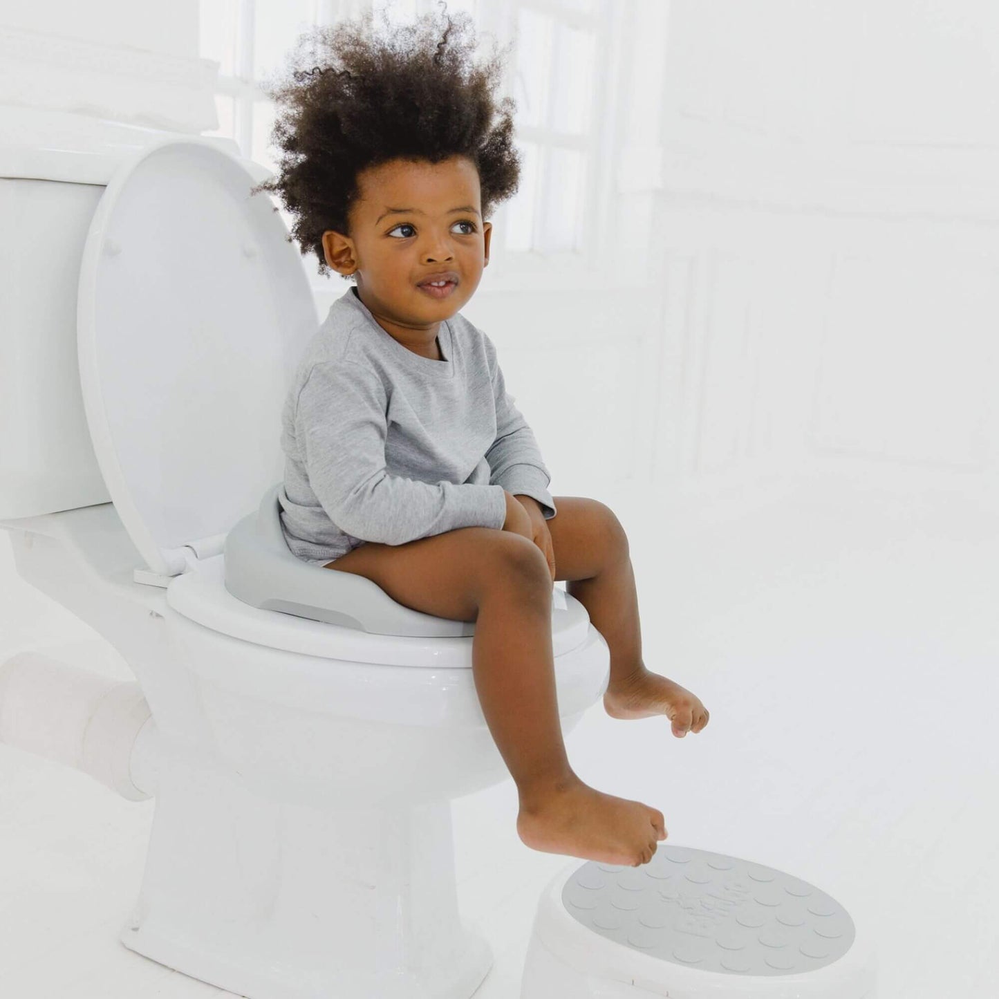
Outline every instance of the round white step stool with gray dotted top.
[[659, 844], [640, 867], [569, 866], [537, 903], [520, 999], [874, 999], [876, 955], [824, 891]]

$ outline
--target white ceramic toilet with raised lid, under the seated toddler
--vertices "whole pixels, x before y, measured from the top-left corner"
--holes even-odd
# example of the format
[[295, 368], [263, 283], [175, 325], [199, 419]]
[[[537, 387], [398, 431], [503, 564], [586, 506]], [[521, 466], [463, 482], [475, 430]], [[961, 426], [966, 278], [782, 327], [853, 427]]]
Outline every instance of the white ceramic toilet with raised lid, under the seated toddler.
[[[155, 794], [121, 938], [140, 954], [252, 999], [468, 999], [492, 953], [459, 919], [450, 802], [508, 777], [474, 623], [294, 556], [285, 581], [325, 585], [343, 623], [227, 588], [226, 537], [272, 508], [319, 327], [298, 249], [249, 195], [267, 174], [224, 140], [45, 149], [19, 114], [0, 122], [0, 526], [138, 684], [23, 650], [0, 665], [0, 740]], [[552, 649], [568, 732], [609, 656], [561, 590]]]

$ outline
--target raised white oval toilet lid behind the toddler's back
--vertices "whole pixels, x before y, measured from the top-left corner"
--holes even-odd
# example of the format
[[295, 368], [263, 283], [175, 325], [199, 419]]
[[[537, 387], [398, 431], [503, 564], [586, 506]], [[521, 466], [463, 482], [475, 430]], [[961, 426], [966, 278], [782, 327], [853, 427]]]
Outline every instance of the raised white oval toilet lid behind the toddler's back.
[[80, 269], [84, 410], [111, 499], [151, 569], [202, 557], [284, 475], [281, 409], [319, 327], [301, 254], [212, 143], [124, 162]]

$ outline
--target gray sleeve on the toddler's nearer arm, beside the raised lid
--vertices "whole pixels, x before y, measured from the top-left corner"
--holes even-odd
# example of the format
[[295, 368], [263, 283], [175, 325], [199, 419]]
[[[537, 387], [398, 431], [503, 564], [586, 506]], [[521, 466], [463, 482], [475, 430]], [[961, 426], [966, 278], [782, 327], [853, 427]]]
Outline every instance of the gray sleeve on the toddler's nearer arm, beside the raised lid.
[[387, 410], [382, 380], [354, 362], [317, 364], [303, 386], [296, 434], [309, 485], [330, 519], [355, 537], [384, 544], [458, 527], [501, 528], [506, 498], [499, 486], [390, 475]]

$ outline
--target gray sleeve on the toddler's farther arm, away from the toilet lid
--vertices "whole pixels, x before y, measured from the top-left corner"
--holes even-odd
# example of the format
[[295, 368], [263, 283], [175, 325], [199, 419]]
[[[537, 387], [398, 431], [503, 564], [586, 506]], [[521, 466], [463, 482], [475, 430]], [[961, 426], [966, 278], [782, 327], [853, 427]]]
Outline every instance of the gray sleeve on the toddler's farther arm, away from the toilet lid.
[[551, 476], [541, 461], [541, 453], [531, 429], [506, 392], [493, 341], [484, 333], [486, 354], [493, 377], [493, 397], [497, 408], [497, 438], [486, 453], [492, 476], [490, 485], [501, 486], [513, 496], [532, 497], [541, 504], [545, 520], [555, 515], [554, 500], [548, 493]]

